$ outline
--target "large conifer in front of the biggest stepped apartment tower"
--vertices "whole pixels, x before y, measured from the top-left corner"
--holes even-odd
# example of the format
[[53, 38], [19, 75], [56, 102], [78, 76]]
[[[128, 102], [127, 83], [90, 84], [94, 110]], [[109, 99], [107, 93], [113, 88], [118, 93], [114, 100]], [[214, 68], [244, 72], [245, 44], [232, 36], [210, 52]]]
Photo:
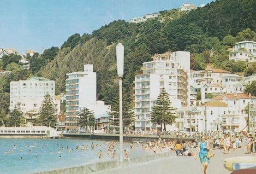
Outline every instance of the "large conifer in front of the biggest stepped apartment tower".
[[162, 88], [150, 113], [151, 122], [161, 124], [161, 130], [162, 124], [164, 124], [164, 131], [166, 131], [166, 124], [172, 125], [175, 122], [175, 118], [177, 118], [172, 112], [173, 110], [176, 109], [171, 107], [169, 94], [166, 92], [165, 88]]

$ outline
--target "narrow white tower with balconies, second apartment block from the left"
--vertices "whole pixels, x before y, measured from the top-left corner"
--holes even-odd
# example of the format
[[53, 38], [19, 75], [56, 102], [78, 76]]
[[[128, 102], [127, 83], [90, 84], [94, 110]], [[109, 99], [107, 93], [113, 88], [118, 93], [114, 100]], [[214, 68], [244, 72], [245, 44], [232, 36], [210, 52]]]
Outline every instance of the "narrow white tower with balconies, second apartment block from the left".
[[78, 130], [79, 111], [95, 110], [96, 73], [92, 64], [85, 64], [84, 71], [66, 74], [66, 130]]

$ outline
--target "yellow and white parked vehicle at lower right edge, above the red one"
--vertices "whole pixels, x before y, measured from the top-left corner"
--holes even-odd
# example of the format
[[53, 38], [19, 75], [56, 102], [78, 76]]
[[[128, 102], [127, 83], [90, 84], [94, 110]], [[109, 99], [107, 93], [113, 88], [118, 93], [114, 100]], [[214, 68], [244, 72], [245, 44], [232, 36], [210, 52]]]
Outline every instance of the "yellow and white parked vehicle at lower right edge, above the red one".
[[224, 162], [225, 162], [224, 167], [229, 171], [233, 171], [235, 169], [240, 169], [240, 168], [256, 167], [256, 157], [254, 155], [242, 156], [242, 157], [230, 157], [230, 158], [226, 158]]

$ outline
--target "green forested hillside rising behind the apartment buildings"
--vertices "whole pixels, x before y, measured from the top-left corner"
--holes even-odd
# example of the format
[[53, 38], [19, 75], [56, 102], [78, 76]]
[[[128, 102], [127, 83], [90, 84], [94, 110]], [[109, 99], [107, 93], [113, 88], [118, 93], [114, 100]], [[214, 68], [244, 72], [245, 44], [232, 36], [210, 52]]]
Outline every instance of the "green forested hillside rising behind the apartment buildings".
[[[255, 12], [256, 0], [216, 0], [188, 13], [175, 9], [161, 11], [160, 17], [143, 23], [113, 21], [93, 31], [92, 35], [71, 35], [60, 50], [52, 48], [53, 54], [46, 52], [39, 59], [31, 58], [38, 63], [32, 64], [32, 71], [22, 71], [24, 75], [21, 75], [22, 78], [39, 75], [54, 80], [56, 94], [60, 94], [65, 93], [66, 73], [82, 71], [83, 64], [93, 64], [97, 72], [98, 99], [111, 104], [118, 92], [115, 58], [118, 41], [125, 46], [123, 85], [130, 101], [134, 76], [141, 73], [142, 63], [151, 60], [153, 54], [168, 50], [190, 51], [193, 70], [203, 70], [211, 64], [233, 73], [250, 75], [256, 73], [255, 64], [246, 68], [245, 62], [229, 61], [227, 48], [238, 41], [256, 41]], [[54, 54], [57, 55], [52, 58]], [[1, 92], [10, 92], [10, 79], [20, 76], [19, 73], [14, 75], [14, 79], [11, 75], [0, 78], [3, 81]]]

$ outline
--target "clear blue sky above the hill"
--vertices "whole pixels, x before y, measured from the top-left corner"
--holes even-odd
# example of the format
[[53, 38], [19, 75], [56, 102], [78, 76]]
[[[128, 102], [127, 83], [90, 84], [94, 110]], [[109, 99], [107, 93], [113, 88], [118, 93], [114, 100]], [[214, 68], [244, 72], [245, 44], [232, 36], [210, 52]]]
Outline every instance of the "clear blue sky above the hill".
[[75, 33], [91, 34], [113, 20], [212, 0], [0, 0], [0, 47], [18, 52], [61, 46]]

